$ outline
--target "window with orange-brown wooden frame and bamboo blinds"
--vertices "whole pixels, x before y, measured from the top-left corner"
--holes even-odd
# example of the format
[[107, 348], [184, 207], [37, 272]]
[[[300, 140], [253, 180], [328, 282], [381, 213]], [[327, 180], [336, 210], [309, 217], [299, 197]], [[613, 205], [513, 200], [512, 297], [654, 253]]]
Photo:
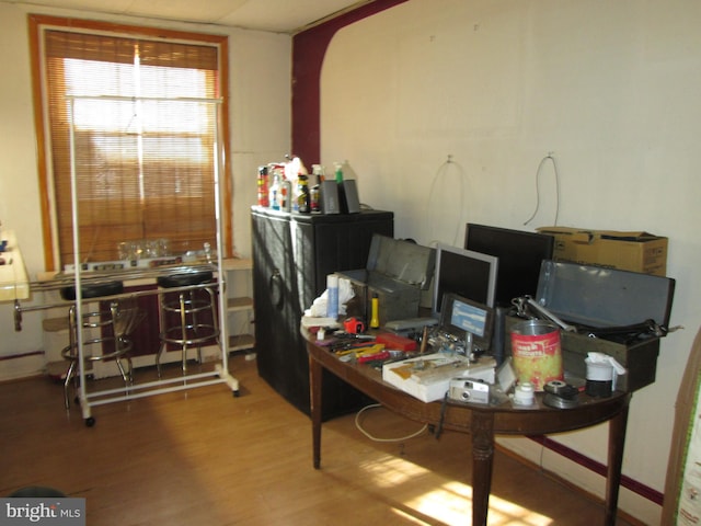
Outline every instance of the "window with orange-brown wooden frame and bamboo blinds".
[[[81, 261], [117, 260], [124, 242], [149, 241], [141, 249], [159, 254], [159, 240], [173, 254], [214, 245], [226, 37], [36, 15], [30, 25], [47, 268], [74, 258], [72, 160]], [[228, 187], [222, 194], [228, 218]]]

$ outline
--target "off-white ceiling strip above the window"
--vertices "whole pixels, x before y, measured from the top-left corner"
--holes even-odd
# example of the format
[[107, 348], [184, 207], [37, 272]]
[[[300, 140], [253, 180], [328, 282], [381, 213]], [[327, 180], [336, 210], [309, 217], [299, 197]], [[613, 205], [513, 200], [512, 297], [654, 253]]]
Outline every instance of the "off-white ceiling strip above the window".
[[368, 0], [0, 0], [32, 7], [295, 33]]

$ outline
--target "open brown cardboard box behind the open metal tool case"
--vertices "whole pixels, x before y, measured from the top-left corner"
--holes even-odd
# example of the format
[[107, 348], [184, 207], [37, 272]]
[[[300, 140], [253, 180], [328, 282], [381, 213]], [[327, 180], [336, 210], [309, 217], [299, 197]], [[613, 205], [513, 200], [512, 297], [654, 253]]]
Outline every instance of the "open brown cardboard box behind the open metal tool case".
[[541, 227], [555, 238], [553, 259], [665, 276], [667, 238], [647, 232]]

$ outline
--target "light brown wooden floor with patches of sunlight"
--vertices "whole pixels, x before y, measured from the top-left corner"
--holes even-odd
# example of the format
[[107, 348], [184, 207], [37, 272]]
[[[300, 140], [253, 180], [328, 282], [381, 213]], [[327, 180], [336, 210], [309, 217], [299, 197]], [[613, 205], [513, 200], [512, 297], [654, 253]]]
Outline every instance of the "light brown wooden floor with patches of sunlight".
[[[230, 365], [240, 398], [221, 384], [94, 407], [93, 427], [48, 378], [0, 385], [0, 493], [47, 485], [84, 498], [90, 526], [470, 524], [469, 436], [372, 442], [347, 415], [324, 424], [314, 470], [309, 419], [254, 361]], [[361, 420], [386, 438], [418, 430], [384, 409]], [[502, 453], [492, 489], [493, 526], [602, 522], [601, 504]]]

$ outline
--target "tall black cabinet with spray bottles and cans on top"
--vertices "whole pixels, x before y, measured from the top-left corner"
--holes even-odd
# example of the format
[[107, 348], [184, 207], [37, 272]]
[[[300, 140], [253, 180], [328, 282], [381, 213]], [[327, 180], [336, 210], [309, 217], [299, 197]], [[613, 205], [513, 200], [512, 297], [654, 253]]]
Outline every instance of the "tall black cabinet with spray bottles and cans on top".
[[[372, 235], [393, 237], [393, 214], [306, 215], [253, 207], [251, 218], [258, 374], [309, 414], [309, 362], [300, 319], [326, 288], [327, 274], [364, 268]], [[324, 419], [367, 401], [338, 378], [324, 374]]]

